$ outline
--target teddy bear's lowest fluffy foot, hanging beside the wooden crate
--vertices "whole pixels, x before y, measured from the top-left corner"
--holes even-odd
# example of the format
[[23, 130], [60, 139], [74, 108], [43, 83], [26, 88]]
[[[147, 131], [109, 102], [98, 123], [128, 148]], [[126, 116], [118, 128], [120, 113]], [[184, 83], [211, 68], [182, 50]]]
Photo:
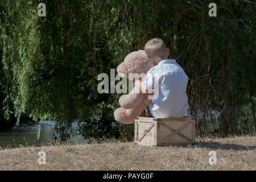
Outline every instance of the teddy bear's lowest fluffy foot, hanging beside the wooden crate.
[[118, 122], [124, 124], [131, 124], [134, 123], [135, 115], [133, 113], [133, 110], [123, 109], [122, 107], [119, 107], [117, 110], [114, 111], [114, 118]]

